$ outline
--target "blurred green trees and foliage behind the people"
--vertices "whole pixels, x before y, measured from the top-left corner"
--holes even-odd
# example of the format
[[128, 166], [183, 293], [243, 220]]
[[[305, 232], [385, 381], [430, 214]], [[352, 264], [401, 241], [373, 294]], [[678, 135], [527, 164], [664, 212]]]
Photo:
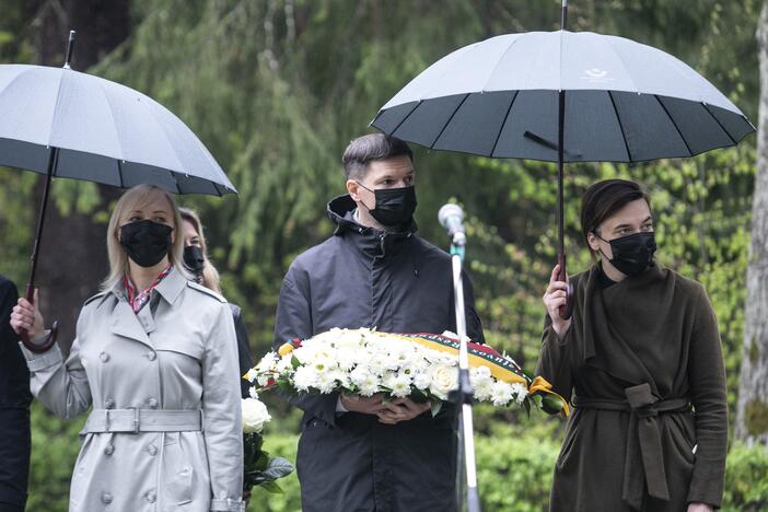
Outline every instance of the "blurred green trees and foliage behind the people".
[[[8, 3], [0, 1], [0, 4]], [[240, 197], [182, 198], [201, 212], [228, 298], [243, 306], [254, 352], [264, 353], [281, 278], [300, 252], [328, 236], [325, 203], [344, 189], [340, 155], [368, 131], [377, 108], [431, 62], [492, 35], [556, 30], [557, 0], [450, 2], [342, 0], [133, 1], [131, 35], [91, 72], [166, 105], [206, 142]], [[756, 119], [755, 30], [760, 2], [604, 0], [571, 2], [570, 28], [613, 33], [683, 59]], [[28, 62], [21, 9], [0, 25], [0, 57]], [[566, 225], [571, 271], [590, 256], [579, 235], [579, 198], [614, 176], [651, 194], [659, 257], [701, 281], [718, 315], [734, 412], [744, 322], [754, 138], [685, 161], [567, 167]], [[540, 295], [555, 256], [555, 170], [417, 149], [421, 234], [442, 243], [434, 212], [453, 198], [469, 212], [468, 252], [488, 341], [533, 369]], [[0, 168], [0, 271], [24, 281], [37, 179]], [[472, 186], [467, 186], [470, 184]], [[57, 182], [63, 212], [106, 222], [97, 189]], [[277, 400], [270, 451], [293, 459], [296, 415]], [[732, 415], [733, 416], [733, 415]], [[34, 409], [30, 510], [65, 510], [78, 450], [77, 422]], [[480, 408], [477, 418], [486, 510], [542, 510], [561, 439], [557, 420]], [[732, 447], [729, 510], [768, 503], [768, 456]], [[298, 510], [295, 477], [284, 496], [256, 496], [259, 510]], [[748, 503], [752, 503], [749, 505]], [[757, 510], [755, 508], [754, 510]]]

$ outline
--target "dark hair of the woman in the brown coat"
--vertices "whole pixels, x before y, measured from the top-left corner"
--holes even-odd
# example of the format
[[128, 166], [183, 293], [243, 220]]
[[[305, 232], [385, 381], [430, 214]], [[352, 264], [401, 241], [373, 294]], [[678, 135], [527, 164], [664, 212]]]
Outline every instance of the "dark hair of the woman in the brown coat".
[[587, 241], [586, 235], [594, 233], [607, 218], [638, 199], [645, 199], [651, 207], [648, 194], [635, 182], [605, 179], [593, 184], [581, 200], [581, 231], [584, 240]]

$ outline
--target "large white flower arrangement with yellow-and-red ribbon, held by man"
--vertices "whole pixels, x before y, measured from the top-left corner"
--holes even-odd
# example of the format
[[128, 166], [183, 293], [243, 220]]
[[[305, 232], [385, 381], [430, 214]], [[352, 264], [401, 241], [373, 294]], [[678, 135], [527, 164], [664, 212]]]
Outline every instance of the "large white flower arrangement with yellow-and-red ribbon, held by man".
[[[389, 398], [431, 402], [433, 412], [457, 387], [458, 341], [444, 335], [397, 335], [376, 330], [339, 329], [290, 341], [267, 353], [246, 373], [257, 389], [280, 387], [289, 393], [383, 393]], [[509, 357], [492, 348], [468, 344], [469, 381], [474, 398], [530, 410], [531, 403], [548, 411], [567, 404], [542, 377], [531, 380]]]

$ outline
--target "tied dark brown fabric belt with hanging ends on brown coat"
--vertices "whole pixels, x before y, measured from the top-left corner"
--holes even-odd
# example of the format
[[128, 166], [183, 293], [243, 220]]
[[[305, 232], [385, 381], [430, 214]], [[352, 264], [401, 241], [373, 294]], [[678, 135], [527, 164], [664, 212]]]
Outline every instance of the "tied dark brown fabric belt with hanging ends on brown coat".
[[624, 458], [621, 499], [636, 510], [642, 507], [645, 484], [653, 498], [670, 501], [664, 470], [664, 452], [656, 417], [661, 412], [689, 410], [687, 398], [659, 399], [648, 383], [624, 389], [626, 400], [574, 397], [577, 408], [629, 412], [627, 449]]

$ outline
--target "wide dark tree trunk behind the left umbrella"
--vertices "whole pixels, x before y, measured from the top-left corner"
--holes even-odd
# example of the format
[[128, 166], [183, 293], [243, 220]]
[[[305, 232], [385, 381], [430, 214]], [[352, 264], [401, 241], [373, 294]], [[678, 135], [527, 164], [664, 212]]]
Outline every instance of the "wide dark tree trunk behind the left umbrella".
[[[128, 36], [127, 0], [43, 1], [33, 22], [33, 45], [42, 63], [62, 66], [67, 38], [75, 30], [77, 40], [72, 69], [85, 71]], [[43, 178], [37, 198], [42, 197]], [[120, 190], [100, 186], [104, 210]], [[37, 208], [39, 199], [33, 202]], [[62, 216], [55, 201], [48, 211], [40, 243], [36, 281], [40, 289], [40, 310], [46, 322], [59, 321], [59, 345], [68, 351], [74, 339], [74, 326], [83, 302], [98, 290], [108, 269], [106, 225], [96, 223], [92, 214], [72, 210]]]

